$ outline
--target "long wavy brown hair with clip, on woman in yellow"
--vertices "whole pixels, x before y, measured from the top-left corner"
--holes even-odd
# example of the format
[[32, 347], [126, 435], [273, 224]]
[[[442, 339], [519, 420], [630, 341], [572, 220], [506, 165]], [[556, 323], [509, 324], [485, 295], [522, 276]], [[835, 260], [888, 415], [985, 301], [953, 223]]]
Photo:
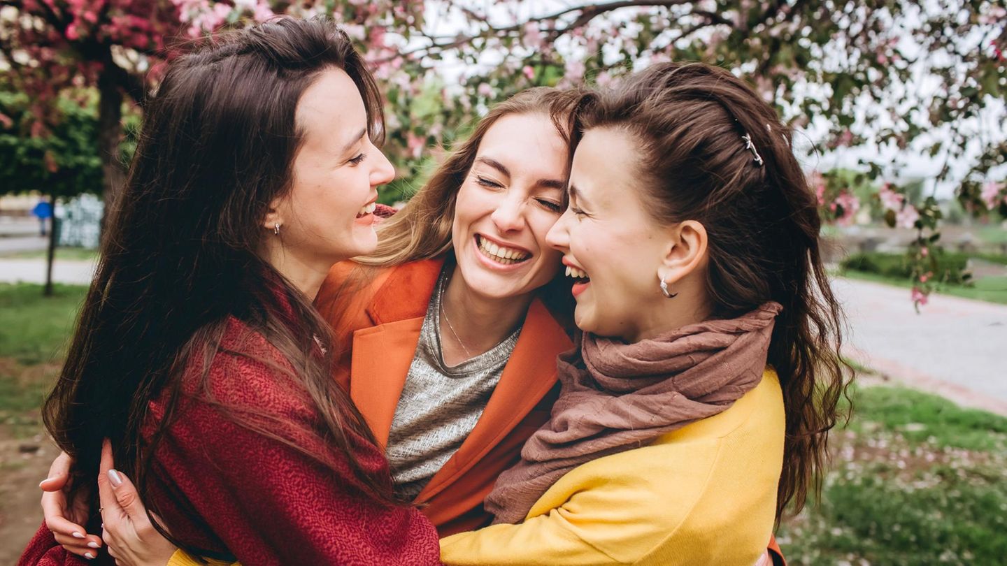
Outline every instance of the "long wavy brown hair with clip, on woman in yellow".
[[618, 128], [636, 140], [635, 173], [658, 222], [706, 228], [714, 316], [783, 305], [768, 356], [786, 412], [776, 519], [788, 505], [799, 512], [821, 489], [852, 370], [840, 357], [844, 319], [819, 252], [817, 200], [789, 130], [743, 81], [701, 63], [651, 66], [588, 97], [579, 120], [582, 131]]

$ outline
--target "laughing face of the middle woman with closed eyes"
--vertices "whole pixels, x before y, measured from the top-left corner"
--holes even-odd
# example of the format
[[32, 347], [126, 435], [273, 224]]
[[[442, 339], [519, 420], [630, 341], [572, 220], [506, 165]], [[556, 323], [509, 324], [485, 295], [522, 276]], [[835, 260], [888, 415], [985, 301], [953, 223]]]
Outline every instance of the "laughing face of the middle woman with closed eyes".
[[473, 293], [510, 298], [553, 279], [560, 253], [546, 234], [563, 208], [567, 145], [544, 114], [497, 120], [458, 190], [451, 240]]

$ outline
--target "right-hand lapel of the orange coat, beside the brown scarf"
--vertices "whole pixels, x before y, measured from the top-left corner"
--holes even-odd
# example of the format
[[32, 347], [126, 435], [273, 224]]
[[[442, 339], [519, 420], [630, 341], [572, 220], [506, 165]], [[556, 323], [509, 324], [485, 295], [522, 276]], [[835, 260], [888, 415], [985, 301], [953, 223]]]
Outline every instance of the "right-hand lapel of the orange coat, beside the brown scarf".
[[518, 343], [485, 411], [416, 503], [429, 501], [451, 485], [507, 436], [556, 384], [556, 355], [571, 347], [573, 342], [542, 301], [532, 301]]

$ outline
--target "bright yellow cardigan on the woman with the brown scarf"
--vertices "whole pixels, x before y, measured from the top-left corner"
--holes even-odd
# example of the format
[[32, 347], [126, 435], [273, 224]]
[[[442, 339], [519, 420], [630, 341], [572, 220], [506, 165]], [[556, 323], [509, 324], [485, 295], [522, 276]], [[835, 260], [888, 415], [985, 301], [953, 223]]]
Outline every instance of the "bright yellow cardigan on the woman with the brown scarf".
[[[448, 565], [751, 566], [772, 534], [783, 461], [779, 381], [653, 444], [578, 466], [520, 525], [441, 539]], [[198, 564], [178, 551], [169, 566]]]

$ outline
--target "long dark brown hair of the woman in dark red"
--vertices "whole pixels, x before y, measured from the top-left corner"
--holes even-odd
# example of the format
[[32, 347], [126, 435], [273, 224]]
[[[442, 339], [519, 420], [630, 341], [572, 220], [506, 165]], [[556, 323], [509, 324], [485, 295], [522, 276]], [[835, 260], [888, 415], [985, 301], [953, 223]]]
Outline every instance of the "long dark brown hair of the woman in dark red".
[[[374, 436], [319, 348], [331, 346], [328, 325], [256, 253], [262, 239], [272, 237], [262, 228], [269, 203], [291, 189], [304, 134], [295, 120], [298, 101], [328, 68], [343, 69], [356, 85], [371, 136], [380, 143], [380, 93], [330, 20], [283, 18], [227, 32], [170, 63], [146, 110], [65, 366], [43, 408], [49, 432], [76, 460], [75, 485], [95, 483], [107, 437], [117, 467], [144, 492], [182, 375], [201, 369], [201, 390], [208, 391], [209, 361], [235, 317], [293, 369], [280, 368], [292, 393], [320, 415], [306, 432], [345, 454], [364, 493], [394, 501], [387, 479], [372, 477], [353, 455]], [[141, 427], [152, 424], [148, 405], [162, 395], [167, 415], [148, 442]], [[265, 415], [221, 408], [239, 424], [334, 467], [296, 439], [303, 435], [276, 432], [282, 427], [271, 427]], [[155, 502], [148, 503], [156, 511]]]

